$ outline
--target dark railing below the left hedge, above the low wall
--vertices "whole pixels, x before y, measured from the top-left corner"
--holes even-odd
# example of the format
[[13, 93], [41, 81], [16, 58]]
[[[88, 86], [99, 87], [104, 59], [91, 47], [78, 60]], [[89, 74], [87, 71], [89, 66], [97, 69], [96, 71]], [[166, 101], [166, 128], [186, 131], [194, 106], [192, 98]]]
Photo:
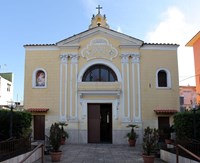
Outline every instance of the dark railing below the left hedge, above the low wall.
[[0, 142], [0, 161], [7, 160], [31, 150], [30, 138], [7, 139]]

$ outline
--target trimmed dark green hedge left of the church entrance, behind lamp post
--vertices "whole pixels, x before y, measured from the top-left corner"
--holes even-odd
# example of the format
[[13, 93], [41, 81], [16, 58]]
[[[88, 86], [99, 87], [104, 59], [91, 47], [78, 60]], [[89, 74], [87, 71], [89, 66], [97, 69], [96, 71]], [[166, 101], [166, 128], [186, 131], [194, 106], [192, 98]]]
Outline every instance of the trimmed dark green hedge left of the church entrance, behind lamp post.
[[[27, 136], [30, 133], [31, 121], [31, 113], [13, 111], [12, 135], [16, 138]], [[9, 138], [10, 110], [0, 110], [0, 124], [0, 140]]]

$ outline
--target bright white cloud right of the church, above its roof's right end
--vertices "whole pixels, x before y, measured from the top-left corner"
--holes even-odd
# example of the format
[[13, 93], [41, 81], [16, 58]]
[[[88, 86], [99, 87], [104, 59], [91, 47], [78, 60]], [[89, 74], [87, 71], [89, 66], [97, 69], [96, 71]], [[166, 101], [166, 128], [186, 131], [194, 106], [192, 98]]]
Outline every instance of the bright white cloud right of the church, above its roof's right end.
[[[170, 7], [161, 14], [161, 21], [157, 26], [146, 35], [148, 42], [180, 45], [178, 48], [180, 85], [195, 85], [193, 50], [185, 47], [185, 44], [197, 33], [198, 26], [194, 24], [194, 20], [193, 23], [189, 20], [183, 11], [177, 7]], [[189, 79], [184, 80], [186, 78]]]

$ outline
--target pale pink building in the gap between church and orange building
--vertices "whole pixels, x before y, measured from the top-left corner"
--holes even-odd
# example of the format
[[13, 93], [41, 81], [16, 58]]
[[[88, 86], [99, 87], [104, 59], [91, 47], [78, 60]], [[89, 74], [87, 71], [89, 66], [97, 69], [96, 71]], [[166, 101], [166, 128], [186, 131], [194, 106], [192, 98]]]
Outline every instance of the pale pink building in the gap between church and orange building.
[[181, 107], [184, 110], [192, 109], [194, 98], [196, 98], [196, 87], [195, 86], [179, 86], [179, 94]]

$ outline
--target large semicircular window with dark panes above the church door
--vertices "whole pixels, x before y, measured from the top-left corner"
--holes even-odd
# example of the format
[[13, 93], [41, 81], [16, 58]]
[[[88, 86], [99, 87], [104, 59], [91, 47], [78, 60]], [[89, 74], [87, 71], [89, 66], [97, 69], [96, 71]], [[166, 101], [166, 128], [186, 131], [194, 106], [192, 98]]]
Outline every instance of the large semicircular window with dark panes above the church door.
[[83, 82], [115, 82], [117, 76], [115, 72], [105, 65], [93, 65], [89, 67], [83, 75]]

